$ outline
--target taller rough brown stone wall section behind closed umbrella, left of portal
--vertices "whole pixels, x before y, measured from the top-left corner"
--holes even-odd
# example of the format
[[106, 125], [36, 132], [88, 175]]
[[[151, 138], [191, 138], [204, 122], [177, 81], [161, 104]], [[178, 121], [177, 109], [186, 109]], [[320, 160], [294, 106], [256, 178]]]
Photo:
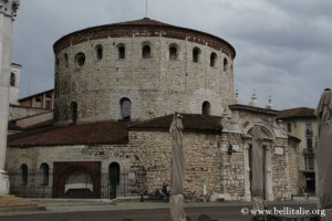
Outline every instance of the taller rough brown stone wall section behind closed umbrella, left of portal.
[[[185, 190], [187, 196], [203, 198], [204, 186], [207, 196], [220, 190], [220, 148], [218, 135], [184, 134], [186, 155]], [[170, 183], [172, 143], [168, 133], [131, 133], [131, 140], [138, 146], [138, 157], [147, 171], [147, 189]]]

